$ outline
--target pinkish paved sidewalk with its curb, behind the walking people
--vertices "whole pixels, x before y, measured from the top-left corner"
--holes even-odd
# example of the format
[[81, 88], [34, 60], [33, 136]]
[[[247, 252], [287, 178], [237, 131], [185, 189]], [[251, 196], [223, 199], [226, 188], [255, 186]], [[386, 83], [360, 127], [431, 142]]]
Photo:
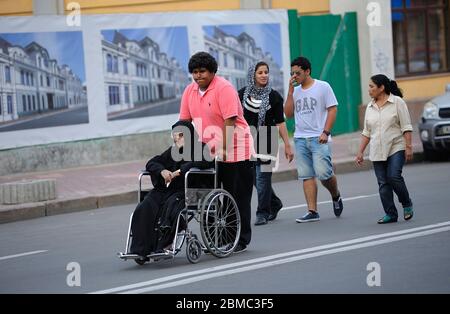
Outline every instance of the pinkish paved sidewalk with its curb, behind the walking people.
[[[354, 132], [333, 137], [333, 163], [336, 173], [361, 171], [371, 167], [368, 159], [362, 168], [354, 165], [360, 136], [360, 132]], [[417, 128], [413, 132], [412, 144], [413, 162], [421, 161], [422, 144]], [[138, 173], [144, 169], [146, 161], [2, 176], [0, 184], [21, 180], [55, 179], [57, 199], [16, 205], [0, 204], [0, 223], [114, 205], [136, 204]], [[295, 160], [288, 163], [284, 158], [284, 148], [280, 147], [280, 164], [274, 172], [273, 181], [296, 178]]]

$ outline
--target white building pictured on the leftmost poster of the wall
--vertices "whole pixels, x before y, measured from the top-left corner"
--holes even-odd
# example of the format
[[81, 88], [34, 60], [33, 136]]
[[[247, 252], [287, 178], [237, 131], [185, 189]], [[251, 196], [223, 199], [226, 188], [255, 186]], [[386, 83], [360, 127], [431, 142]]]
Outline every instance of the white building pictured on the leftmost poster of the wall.
[[87, 106], [86, 90], [67, 65], [36, 42], [20, 47], [0, 36], [0, 123], [77, 106]]

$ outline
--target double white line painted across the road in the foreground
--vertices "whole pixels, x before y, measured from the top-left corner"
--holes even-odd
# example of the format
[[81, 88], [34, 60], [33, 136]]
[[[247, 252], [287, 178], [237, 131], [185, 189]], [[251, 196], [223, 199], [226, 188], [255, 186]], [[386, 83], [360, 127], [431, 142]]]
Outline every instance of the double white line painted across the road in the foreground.
[[[284, 263], [290, 263], [303, 259], [334, 254], [339, 252], [345, 252], [349, 250], [355, 250], [359, 248], [371, 247], [375, 245], [391, 243], [410, 238], [416, 238], [426, 236], [438, 232], [450, 231], [450, 221], [416, 227], [411, 229], [404, 229], [395, 232], [382, 233], [377, 235], [366, 236], [362, 238], [356, 238], [347, 241], [341, 241], [331, 244], [320, 245], [312, 248], [296, 250], [292, 252], [280, 253], [242, 262], [236, 262], [227, 265], [220, 265], [216, 267], [210, 267], [206, 269], [200, 269], [196, 271], [185, 272], [181, 274], [166, 276], [149, 281], [139, 282], [131, 285], [119, 286], [116, 288], [95, 291], [95, 294], [104, 293], [144, 293], [155, 290], [166, 289], [169, 287], [180, 286], [187, 283], [198, 282], [215, 277], [226, 276], [230, 274], [251, 271], [255, 269], [261, 269], [280, 265]], [[252, 265], [254, 264], [254, 265]], [[191, 277], [181, 279], [185, 277]], [[172, 282], [169, 282], [172, 281]]]

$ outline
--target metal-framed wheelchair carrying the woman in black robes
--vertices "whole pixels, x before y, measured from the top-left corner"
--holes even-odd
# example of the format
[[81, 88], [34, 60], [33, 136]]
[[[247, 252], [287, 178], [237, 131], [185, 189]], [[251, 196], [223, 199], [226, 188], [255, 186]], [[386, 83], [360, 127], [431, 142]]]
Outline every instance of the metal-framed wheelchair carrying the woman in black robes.
[[[147, 171], [139, 174], [138, 202], [141, 202], [150, 191], [143, 189], [143, 178], [150, 176]], [[212, 182], [210, 186], [198, 186], [193, 184], [195, 180]], [[205, 178], [206, 180], [203, 180]], [[185, 175], [185, 207], [177, 216], [174, 237], [170, 249], [162, 252], [150, 253], [145, 259], [130, 253], [130, 245], [133, 238], [130, 216], [125, 251], [119, 252], [122, 260], [133, 259], [138, 265], [146, 262], [156, 262], [164, 259], [172, 259], [177, 255], [186, 243], [186, 257], [190, 263], [197, 263], [201, 254], [210, 253], [218, 258], [227, 257], [236, 248], [241, 233], [241, 219], [236, 201], [227, 191], [218, 188], [218, 161], [211, 169], [191, 168]], [[191, 221], [199, 223], [199, 231], [202, 241], [189, 227]]]

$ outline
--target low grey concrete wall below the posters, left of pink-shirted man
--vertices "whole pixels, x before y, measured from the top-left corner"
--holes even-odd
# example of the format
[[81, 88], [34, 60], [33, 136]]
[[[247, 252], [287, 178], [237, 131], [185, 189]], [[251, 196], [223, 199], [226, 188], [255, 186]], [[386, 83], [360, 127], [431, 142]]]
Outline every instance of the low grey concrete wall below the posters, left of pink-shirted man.
[[169, 131], [0, 151], [0, 176], [142, 160], [160, 154], [172, 142]]

